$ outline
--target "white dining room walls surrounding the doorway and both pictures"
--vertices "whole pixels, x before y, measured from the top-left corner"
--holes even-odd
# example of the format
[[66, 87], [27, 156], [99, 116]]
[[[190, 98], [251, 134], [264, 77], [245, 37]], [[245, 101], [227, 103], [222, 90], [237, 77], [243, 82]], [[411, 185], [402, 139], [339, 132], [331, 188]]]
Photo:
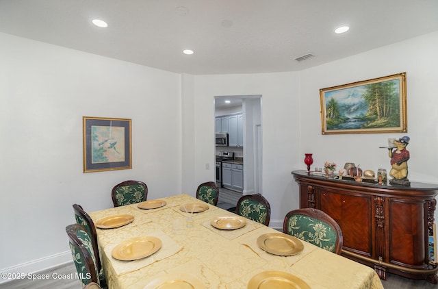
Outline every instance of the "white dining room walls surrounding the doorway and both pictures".
[[[304, 153], [313, 166], [389, 168], [378, 147], [404, 135], [322, 136], [320, 88], [406, 71], [409, 179], [438, 184], [438, 32], [305, 71], [242, 75], [176, 75], [7, 34], [0, 47], [0, 271], [68, 251], [71, 205], [110, 208], [119, 181], [146, 181], [154, 199], [214, 179], [218, 95], [262, 96], [263, 194], [274, 227], [298, 208], [290, 172], [305, 168]], [[132, 170], [82, 173], [82, 116], [132, 118]]]

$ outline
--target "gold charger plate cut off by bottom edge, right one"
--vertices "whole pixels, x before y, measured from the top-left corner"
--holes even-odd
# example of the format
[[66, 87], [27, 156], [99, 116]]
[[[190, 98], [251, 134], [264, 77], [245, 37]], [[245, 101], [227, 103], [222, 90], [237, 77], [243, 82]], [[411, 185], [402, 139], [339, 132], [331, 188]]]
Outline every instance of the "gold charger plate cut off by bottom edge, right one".
[[248, 289], [311, 289], [302, 279], [281, 271], [265, 271], [249, 280]]

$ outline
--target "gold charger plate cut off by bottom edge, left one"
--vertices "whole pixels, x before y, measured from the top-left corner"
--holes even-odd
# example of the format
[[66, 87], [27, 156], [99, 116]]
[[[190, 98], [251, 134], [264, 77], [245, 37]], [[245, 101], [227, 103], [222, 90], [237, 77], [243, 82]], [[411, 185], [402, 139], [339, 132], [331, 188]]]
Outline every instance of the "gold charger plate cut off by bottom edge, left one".
[[167, 274], [153, 279], [144, 289], [204, 289], [203, 281], [187, 273]]

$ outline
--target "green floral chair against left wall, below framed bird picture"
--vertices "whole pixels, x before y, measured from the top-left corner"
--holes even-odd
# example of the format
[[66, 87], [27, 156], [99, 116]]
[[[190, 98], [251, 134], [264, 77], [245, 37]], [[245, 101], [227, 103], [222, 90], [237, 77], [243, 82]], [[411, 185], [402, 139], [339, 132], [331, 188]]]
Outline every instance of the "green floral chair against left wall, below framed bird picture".
[[111, 197], [114, 207], [140, 203], [148, 197], [148, 186], [142, 181], [122, 181], [112, 188]]

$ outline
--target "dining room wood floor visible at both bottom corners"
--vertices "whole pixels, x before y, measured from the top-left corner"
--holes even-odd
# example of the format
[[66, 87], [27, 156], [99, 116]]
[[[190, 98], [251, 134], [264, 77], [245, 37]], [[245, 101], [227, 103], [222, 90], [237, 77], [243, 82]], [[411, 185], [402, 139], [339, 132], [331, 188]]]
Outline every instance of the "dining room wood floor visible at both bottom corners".
[[[58, 266], [49, 271], [45, 271], [44, 274], [49, 274], [50, 276], [55, 273], [60, 274], [75, 274], [75, 265], [73, 262]], [[382, 280], [383, 287], [385, 289], [438, 289], [438, 285], [430, 284], [425, 280], [411, 280], [398, 275], [387, 274], [387, 279]], [[53, 279], [49, 278], [47, 280], [35, 280], [31, 281], [29, 279], [14, 280], [5, 284], [0, 284], [1, 289], [81, 289], [81, 284], [77, 279]], [[213, 288], [214, 289], [214, 288]], [[244, 289], [244, 288], [242, 288]], [[335, 289], [335, 288], [333, 288]]]

